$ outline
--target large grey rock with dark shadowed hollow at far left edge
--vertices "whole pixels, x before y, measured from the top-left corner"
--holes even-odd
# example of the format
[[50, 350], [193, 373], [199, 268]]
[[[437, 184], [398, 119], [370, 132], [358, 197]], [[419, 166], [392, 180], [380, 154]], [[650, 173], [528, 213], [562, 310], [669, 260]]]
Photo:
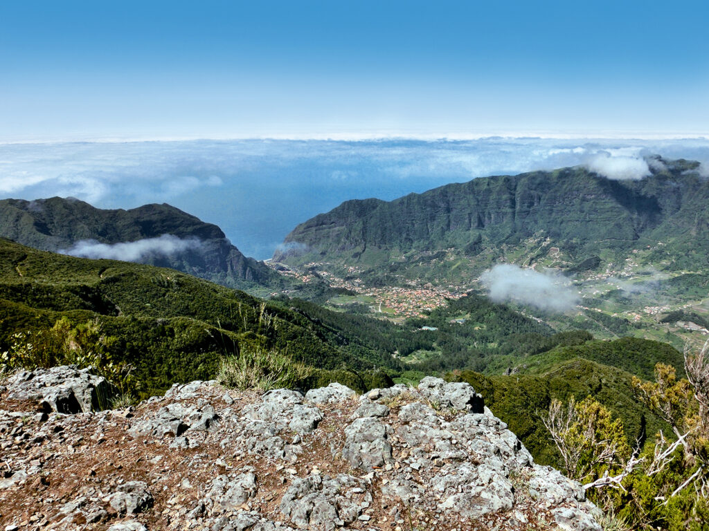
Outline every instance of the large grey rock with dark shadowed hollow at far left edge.
[[108, 405], [106, 379], [73, 365], [21, 371], [9, 377], [8, 399], [36, 401], [45, 411], [89, 413]]

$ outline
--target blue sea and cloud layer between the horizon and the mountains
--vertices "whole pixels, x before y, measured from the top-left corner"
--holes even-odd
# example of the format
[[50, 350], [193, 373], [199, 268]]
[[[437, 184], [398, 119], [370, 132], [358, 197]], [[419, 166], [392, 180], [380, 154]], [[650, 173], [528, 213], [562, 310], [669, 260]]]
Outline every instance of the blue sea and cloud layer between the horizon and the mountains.
[[639, 179], [649, 173], [650, 154], [702, 161], [700, 172], [709, 176], [707, 139], [0, 144], [0, 198], [74, 196], [101, 208], [169, 202], [264, 259], [296, 224], [345, 200], [392, 200], [477, 177], [577, 165]]

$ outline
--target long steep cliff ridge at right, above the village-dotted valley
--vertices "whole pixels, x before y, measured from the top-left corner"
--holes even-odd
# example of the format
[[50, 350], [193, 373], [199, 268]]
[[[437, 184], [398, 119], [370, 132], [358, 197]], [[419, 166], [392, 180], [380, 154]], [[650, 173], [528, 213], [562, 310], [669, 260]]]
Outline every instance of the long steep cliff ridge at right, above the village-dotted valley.
[[[662, 161], [640, 181], [612, 181], [576, 167], [478, 178], [391, 202], [348, 201], [298, 225], [286, 242], [298, 253], [274, 259], [370, 260], [454, 249], [479, 241], [498, 254], [532, 236], [572, 258], [656, 242], [686, 245], [707, 228], [709, 184], [698, 163]], [[700, 236], [705, 243], [705, 236]], [[503, 249], [504, 248], [504, 249]], [[378, 258], [372, 258], [374, 251]]]

